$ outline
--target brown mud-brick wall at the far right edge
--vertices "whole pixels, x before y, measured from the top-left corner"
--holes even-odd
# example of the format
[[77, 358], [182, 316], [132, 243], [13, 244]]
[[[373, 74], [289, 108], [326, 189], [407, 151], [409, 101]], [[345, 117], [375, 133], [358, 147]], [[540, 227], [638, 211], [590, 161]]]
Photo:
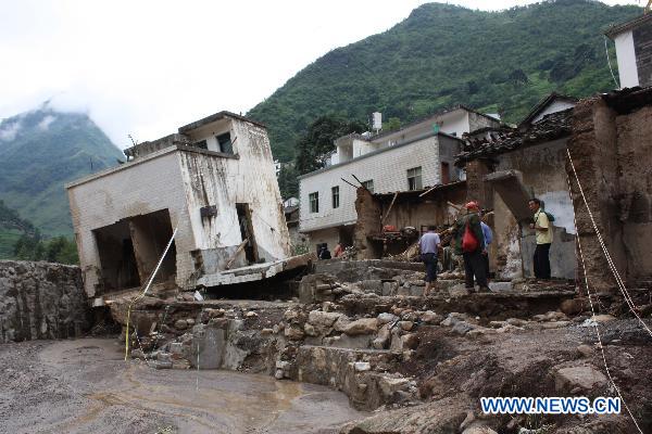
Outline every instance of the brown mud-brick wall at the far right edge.
[[[627, 285], [652, 278], [651, 120], [652, 88], [584, 100], [574, 112], [568, 146], [595, 227]], [[567, 170], [574, 177], [569, 165]], [[576, 181], [573, 195], [589, 283], [600, 290], [615, 288]]]

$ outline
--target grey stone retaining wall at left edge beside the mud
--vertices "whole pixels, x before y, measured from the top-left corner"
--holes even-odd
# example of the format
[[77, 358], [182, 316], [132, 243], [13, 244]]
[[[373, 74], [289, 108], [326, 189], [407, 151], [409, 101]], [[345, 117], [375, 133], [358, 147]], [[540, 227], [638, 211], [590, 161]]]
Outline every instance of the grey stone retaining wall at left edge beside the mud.
[[77, 336], [89, 314], [79, 267], [0, 260], [0, 342]]

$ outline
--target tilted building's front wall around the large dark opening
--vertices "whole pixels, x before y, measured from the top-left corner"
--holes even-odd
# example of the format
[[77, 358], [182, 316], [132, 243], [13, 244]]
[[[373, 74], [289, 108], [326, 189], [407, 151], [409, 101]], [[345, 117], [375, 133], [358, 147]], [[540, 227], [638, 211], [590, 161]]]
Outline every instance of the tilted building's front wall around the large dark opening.
[[195, 269], [190, 252], [196, 248], [196, 242], [176, 148], [72, 182], [68, 201], [84, 288], [89, 297], [101, 295], [103, 291], [93, 230], [163, 209], [170, 213], [172, 228], [178, 225], [176, 284], [184, 288]]

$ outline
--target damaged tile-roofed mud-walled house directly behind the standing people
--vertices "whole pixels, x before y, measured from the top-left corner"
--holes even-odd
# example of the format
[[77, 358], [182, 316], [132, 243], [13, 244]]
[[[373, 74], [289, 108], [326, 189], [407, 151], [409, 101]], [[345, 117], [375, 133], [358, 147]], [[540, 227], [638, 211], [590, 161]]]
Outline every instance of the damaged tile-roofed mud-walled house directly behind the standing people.
[[575, 279], [575, 213], [568, 194], [566, 149], [574, 99], [555, 93], [517, 128], [474, 131], [456, 164], [466, 170], [466, 200], [493, 209], [490, 268], [503, 279], [534, 277], [535, 232], [528, 201], [538, 197], [554, 217], [553, 277]]

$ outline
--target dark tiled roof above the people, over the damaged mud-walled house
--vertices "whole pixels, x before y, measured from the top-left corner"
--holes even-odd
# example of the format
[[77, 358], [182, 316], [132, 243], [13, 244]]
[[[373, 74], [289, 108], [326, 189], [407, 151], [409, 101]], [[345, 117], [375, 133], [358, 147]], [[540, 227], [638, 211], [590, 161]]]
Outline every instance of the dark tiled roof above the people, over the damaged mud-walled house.
[[573, 108], [551, 113], [525, 130], [504, 130], [490, 138], [466, 139], [464, 152], [456, 155], [455, 164], [489, 157], [492, 155], [511, 152], [531, 144], [548, 142], [570, 136], [573, 124]]

